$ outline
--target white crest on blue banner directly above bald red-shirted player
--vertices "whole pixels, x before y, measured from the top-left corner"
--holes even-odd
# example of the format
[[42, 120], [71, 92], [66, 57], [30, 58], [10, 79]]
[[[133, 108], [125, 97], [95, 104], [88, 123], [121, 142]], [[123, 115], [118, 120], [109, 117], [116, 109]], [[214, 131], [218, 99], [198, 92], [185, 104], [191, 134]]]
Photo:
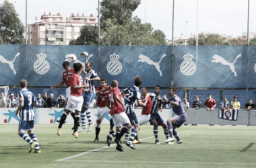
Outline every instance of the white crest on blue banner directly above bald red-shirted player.
[[109, 57], [110, 61], [106, 65], [106, 71], [108, 71], [110, 75], [119, 75], [123, 69], [121, 62], [118, 60], [119, 55], [115, 54], [114, 52], [114, 54], [110, 55]]

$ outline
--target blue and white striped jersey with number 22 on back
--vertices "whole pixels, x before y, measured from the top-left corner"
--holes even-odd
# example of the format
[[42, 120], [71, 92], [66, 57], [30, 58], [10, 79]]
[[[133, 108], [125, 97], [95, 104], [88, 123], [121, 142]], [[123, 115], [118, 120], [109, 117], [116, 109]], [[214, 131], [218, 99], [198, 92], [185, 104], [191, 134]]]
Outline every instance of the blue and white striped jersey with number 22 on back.
[[127, 87], [123, 90], [125, 93], [125, 107], [126, 107], [126, 114], [133, 113], [134, 110], [134, 103], [137, 101], [137, 99], [141, 99], [141, 94], [139, 92], [139, 88], [136, 86], [133, 87]]

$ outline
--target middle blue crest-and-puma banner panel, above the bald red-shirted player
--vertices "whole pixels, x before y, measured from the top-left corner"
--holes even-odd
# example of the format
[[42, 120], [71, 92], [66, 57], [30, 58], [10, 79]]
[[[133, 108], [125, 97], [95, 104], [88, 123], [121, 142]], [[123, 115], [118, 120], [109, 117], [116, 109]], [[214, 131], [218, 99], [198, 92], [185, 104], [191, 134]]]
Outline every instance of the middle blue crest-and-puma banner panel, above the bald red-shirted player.
[[143, 79], [141, 86], [170, 87], [170, 46], [101, 46], [100, 77], [119, 81], [122, 87], [134, 85], [134, 77]]

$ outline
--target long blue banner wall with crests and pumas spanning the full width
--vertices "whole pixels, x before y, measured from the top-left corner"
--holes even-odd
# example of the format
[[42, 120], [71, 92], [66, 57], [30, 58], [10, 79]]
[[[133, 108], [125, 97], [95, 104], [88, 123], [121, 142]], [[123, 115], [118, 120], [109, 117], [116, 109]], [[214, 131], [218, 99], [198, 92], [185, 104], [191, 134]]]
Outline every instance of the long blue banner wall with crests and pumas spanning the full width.
[[28, 45], [27, 59], [25, 53], [25, 45], [0, 45], [0, 85], [27, 77], [29, 86], [50, 87], [75, 54], [76, 62], [92, 62], [101, 78], [117, 79], [121, 87], [139, 75], [146, 87], [256, 88], [256, 46], [174, 46], [173, 62], [171, 46], [100, 46], [99, 58], [97, 46]]

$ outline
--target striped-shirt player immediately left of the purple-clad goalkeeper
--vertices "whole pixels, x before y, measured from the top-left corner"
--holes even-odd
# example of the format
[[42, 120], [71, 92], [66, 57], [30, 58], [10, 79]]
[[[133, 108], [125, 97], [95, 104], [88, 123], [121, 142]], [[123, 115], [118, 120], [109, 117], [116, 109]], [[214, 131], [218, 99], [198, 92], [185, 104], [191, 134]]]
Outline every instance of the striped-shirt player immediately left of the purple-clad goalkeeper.
[[[168, 135], [168, 128], [166, 124], [164, 123], [164, 120], [161, 118], [161, 116], [158, 114], [159, 111], [162, 110], [161, 105], [164, 102], [162, 98], [160, 97], [161, 87], [160, 85], [156, 85], [154, 93], [149, 93], [151, 99], [152, 99], [152, 108], [151, 108], [151, 116], [150, 116], [150, 124], [154, 126], [154, 136], [156, 138], [155, 144], [160, 144], [160, 141], [158, 139], [158, 126], [162, 126], [164, 128], [164, 134], [166, 136], [166, 139], [169, 138]], [[148, 98], [148, 95], [146, 95], [146, 99]]]

